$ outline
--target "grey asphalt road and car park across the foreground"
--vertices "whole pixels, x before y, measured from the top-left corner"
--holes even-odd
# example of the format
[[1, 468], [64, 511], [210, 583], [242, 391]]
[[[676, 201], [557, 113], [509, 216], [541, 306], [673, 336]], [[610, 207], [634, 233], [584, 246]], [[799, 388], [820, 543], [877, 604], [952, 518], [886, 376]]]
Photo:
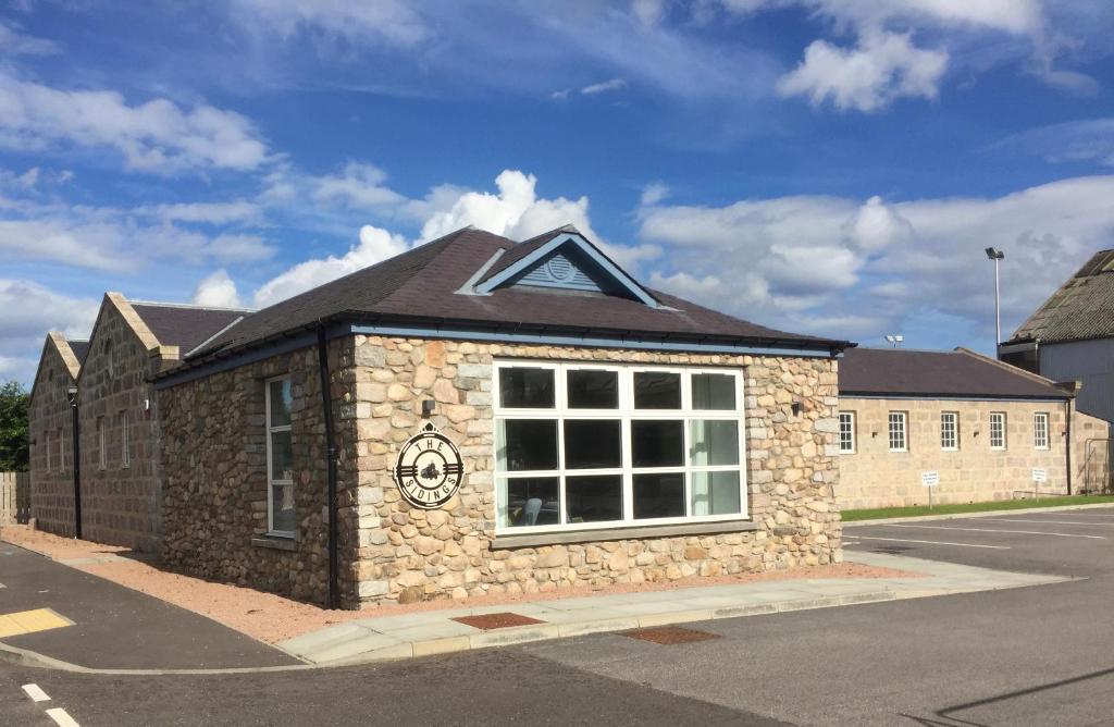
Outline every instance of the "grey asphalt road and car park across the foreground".
[[1114, 724], [1114, 508], [918, 525], [848, 527], [849, 550], [1085, 580], [697, 623], [720, 638], [677, 646], [593, 634], [221, 677], [0, 666], [0, 723], [50, 725], [52, 702], [81, 725]]

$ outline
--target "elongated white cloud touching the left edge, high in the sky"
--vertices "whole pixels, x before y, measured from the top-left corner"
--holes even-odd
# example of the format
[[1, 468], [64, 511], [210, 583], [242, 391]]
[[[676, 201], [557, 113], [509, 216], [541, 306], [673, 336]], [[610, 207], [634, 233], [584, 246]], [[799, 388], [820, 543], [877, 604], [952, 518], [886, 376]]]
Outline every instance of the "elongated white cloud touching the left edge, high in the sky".
[[129, 105], [111, 90], [60, 90], [0, 69], [0, 146], [42, 151], [76, 145], [114, 148], [129, 169], [254, 169], [267, 148], [253, 124], [204, 103], [182, 108], [165, 98]]

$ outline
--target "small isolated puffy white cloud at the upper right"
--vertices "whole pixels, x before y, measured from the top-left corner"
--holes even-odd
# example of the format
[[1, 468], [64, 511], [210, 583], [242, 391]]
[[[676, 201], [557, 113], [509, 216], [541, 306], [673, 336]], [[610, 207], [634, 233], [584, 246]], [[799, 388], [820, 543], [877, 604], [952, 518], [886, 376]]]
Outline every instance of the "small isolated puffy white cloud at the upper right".
[[801, 65], [778, 81], [778, 93], [876, 112], [898, 98], [936, 98], [947, 65], [947, 51], [917, 48], [908, 35], [867, 32], [853, 49], [814, 40]]

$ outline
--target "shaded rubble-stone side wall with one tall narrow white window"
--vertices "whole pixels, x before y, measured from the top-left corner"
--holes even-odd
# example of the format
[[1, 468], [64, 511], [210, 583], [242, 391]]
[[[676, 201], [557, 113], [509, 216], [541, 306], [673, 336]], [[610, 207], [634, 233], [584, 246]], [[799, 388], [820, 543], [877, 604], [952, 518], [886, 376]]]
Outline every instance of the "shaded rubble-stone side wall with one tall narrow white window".
[[[354, 512], [352, 339], [330, 342], [342, 512]], [[349, 367], [348, 369], [345, 367]], [[291, 377], [294, 539], [267, 536], [265, 381]], [[348, 378], [346, 378], [348, 377]], [[165, 565], [319, 604], [328, 602], [328, 461], [316, 348], [158, 391]], [[367, 463], [364, 463], [367, 464]], [[352, 543], [341, 529], [341, 595], [354, 607]]]

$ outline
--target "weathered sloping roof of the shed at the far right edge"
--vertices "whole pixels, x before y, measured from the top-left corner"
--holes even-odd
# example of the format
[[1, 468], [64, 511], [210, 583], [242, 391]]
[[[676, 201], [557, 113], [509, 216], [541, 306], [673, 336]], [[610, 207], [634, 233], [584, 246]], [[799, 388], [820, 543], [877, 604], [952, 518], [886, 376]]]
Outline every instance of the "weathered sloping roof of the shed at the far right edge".
[[1095, 253], [1059, 287], [1009, 343], [1114, 337], [1114, 250]]

